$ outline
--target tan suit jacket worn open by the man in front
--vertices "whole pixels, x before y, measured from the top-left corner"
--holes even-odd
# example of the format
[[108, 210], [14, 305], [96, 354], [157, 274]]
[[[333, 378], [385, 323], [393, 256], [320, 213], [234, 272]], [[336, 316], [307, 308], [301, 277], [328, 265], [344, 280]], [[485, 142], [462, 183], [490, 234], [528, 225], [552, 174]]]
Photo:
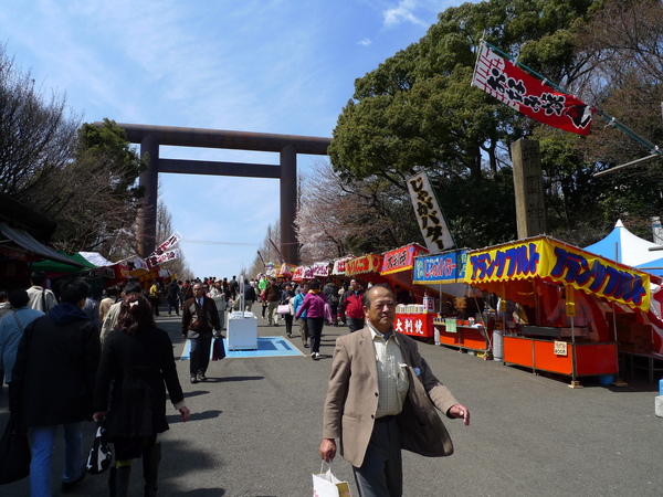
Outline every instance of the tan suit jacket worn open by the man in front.
[[[427, 456], [450, 455], [451, 437], [434, 408], [446, 413], [459, 402], [431, 372], [417, 342], [407, 335], [397, 332], [397, 337], [410, 372], [408, 398], [397, 420], [401, 447]], [[323, 437], [340, 438], [340, 454], [355, 467], [364, 463], [378, 396], [370, 328], [338, 338], [325, 401]]]

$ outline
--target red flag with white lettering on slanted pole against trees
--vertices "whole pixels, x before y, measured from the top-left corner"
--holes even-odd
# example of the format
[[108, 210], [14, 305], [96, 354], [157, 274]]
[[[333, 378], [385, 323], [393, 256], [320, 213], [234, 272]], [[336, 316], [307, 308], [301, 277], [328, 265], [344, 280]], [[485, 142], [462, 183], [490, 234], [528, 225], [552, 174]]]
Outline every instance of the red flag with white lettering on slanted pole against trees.
[[548, 126], [589, 135], [593, 112], [590, 106], [555, 91], [491, 49], [482, 41], [472, 77], [474, 86]]

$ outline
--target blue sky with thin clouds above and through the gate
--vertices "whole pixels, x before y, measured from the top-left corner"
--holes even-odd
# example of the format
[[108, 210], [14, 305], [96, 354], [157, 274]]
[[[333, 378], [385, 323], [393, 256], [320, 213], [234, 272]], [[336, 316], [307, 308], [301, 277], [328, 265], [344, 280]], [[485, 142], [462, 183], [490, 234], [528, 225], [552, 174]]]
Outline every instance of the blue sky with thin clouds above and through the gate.
[[[0, 9], [0, 43], [86, 123], [330, 137], [355, 80], [461, 3], [12, 0]], [[161, 147], [160, 157], [278, 163], [276, 154], [238, 150]], [[299, 172], [319, 160], [299, 156]], [[278, 180], [160, 175], [159, 183], [197, 276], [249, 267], [278, 219]]]

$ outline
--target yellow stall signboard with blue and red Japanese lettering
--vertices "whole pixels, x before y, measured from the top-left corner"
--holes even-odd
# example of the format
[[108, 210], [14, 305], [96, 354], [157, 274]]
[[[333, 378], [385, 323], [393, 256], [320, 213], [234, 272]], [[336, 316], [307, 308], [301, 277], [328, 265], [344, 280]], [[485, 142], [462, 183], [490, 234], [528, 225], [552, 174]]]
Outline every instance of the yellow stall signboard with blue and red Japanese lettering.
[[538, 236], [467, 254], [465, 283], [529, 279], [571, 285], [633, 309], [649, 310], [650, 275], [581, 248]]

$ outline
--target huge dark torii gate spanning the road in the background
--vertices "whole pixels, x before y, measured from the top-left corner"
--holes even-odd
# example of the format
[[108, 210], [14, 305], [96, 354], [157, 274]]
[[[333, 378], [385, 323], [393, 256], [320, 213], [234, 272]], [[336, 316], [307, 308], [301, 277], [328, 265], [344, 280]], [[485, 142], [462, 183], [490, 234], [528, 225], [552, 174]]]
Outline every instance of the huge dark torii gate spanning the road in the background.
[[[101, 127], [103, 123], [95, 123], [95, 126]], [[286, 262], [292, 264], [299, 262], [298, 244], [293, 226], [297, 203], [297, 154], [327, 155], [332, 138], [119, 123], [117, 126], [126, 131], [128, 141], [140, 144], [140, 157], [148, 166], [139, 178], [139, 184], [145, 189], [146, 203], [138, 212], [138, 255], [147, 257], [156, 246], [159, 172], [179, 172], [280, 179], [281, 252]], [[278, 152], [281, 160], [278, 166], [274, 166], [161, 159], [159, 157], [161, 145]]]

